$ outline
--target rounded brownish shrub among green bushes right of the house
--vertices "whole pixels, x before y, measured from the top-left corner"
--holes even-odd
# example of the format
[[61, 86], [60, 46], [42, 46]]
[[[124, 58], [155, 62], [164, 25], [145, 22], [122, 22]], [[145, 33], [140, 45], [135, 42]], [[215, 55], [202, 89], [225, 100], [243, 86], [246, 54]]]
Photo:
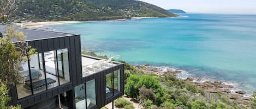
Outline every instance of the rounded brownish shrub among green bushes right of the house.
[[140, 88], [140, 91], [139, 91], [139, 100], [140, 102], [144, 102], [144, 100], [146, 99], [152, 100], [153, 102], [156, 101], [154, 92], [152, 92], [150, 89], [142, 87]]

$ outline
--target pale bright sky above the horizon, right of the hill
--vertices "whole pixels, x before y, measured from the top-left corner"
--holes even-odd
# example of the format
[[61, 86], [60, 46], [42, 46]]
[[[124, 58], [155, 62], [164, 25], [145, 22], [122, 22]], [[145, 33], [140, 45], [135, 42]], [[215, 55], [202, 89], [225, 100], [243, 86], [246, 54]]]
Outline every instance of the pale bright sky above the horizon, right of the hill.
[[164, 9], [215, 14], [256, 14], [256, 0], [140, 0]]

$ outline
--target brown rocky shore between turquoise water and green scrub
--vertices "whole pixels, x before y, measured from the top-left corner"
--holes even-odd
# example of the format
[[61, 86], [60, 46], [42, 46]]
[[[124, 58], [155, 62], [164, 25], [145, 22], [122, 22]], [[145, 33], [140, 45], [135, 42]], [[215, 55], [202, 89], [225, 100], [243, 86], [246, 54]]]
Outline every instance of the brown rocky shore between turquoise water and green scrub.
[[[186, 72], [184, 70], [177, 70], [174, 68], [163, 68], [163, 67], [152, 67], [148, 64], [145, 65], [134, 65], [138, 70], [143, 70], [148, 74], [166, 75], [171, 74], [177, 77], [178, 74]], [[225, 84], [222, 81], [202, 81], [202, 78], [186, 78], [185, 81], [190, 82], [197, 87], [204, 88], [207, 93], [220, 93], [228, 95], [229, 99], [235, 100], [239, 104], [245, 106], [249, 105], [249, 97], [244, 97], [246, 91], [235, 91], [235, 86]]]

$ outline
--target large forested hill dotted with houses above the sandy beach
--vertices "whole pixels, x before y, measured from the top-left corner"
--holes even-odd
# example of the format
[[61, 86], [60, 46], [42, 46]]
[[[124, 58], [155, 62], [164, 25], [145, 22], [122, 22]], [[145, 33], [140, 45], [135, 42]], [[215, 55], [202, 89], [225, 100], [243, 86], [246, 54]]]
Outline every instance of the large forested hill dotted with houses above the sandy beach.
[[133, 0], [20, 0], [13, 20], [97, 21], [132, 17], [178, 16], [156, 5]]

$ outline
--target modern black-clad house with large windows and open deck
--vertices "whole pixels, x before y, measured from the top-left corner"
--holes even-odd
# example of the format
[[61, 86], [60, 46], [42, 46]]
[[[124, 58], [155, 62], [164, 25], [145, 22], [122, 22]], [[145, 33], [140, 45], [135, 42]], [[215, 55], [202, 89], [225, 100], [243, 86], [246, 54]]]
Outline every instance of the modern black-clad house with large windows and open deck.
[[[0, 32], [4, 33], [0, 25]], [[19, 68], [9, 105], [22, 108], [101, 108], [124, 92], [124, 64], [81, 54], [80, 35], [16, 27], [37, 54]], [[14, 43], [16, 41], [14, 40]]]

